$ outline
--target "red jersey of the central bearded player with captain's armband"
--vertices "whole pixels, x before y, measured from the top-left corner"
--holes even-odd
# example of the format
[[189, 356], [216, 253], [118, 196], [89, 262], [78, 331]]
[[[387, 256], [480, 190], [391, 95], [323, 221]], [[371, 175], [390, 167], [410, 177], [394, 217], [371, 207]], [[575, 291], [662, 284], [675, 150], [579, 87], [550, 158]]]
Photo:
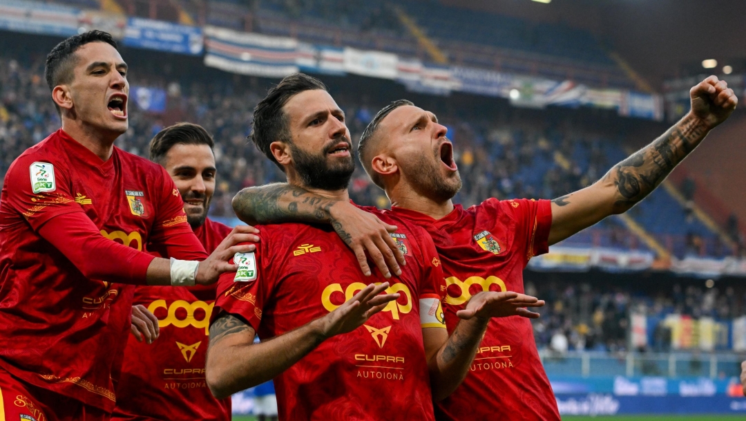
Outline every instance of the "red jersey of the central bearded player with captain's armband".
[[[445, 328], [440, 262], [424, 230], [380, 217], [399, 227], [392, 237], [407, 265], [386, 292], [401, 296], [275, 378], [280, 420], [434, 419], [422, 328]], [[257, 251], [236, 254], [236, 274], [221, 276], [216, 309], [242, 316], [263, 340], [329, 314], [371, 282], [386, 281], [377, 271], [364, 276], [330, 226], [285, 223], [259, 230]]]

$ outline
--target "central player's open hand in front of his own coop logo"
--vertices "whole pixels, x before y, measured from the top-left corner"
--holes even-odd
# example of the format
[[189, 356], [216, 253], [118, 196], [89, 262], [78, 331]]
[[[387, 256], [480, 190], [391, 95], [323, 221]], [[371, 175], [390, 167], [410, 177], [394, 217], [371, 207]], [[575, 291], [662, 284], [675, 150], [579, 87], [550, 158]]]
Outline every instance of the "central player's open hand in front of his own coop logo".
[[319, 319], [322, 323], [322, 335], [329, 338], [359, 328], [371, 316], [383, 310], [389, 302], [399, 298], [398, 293], [378, 295], [388, 287], [388, 282], [370, 284], [335, 311]]

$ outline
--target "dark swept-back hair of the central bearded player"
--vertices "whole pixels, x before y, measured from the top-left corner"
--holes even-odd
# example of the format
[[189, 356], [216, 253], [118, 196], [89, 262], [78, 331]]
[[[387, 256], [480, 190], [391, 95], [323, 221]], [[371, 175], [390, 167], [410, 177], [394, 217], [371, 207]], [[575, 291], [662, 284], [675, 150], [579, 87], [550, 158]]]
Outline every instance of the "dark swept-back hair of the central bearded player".
[[269, 150], [269, 144], [276, 140], [286, 143], [292, 141], [288, 128], [289, 121], [283, 107], [293, 96], [307, 90], [327, 90], [327, 88], [317, 78], [303, 73], [293, 73], [270, 89], [267, 96], [254, 108], [254, 122], [251, 124], [252, 130], [248, 138], [283, 171], [285, 169]]

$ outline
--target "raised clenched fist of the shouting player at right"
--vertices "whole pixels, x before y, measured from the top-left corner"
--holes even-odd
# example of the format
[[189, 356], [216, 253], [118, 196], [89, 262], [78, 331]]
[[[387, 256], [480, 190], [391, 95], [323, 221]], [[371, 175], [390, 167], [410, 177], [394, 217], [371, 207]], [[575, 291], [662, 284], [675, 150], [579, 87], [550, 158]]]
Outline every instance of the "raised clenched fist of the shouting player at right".
[[724, 122], [736, 109], [739, 99], [725, 81], [710, 76], [689, 90], [692, 111], [706, 128], [711, 129]]

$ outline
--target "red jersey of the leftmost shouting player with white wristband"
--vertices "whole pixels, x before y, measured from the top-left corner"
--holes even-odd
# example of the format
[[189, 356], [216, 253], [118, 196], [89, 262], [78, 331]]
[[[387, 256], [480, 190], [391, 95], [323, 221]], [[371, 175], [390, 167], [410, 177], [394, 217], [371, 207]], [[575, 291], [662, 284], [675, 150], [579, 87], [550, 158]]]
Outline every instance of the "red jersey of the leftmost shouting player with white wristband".
[[62, 129], [13, 161], [0, 200], [0, 366], [112, 411], [134, 295], [116, 282], [145, 281], [148, 241], [191, 238], [188, 257], [206, 257], [183, 206], [160, 166], [117, 148], [104, 162]]

